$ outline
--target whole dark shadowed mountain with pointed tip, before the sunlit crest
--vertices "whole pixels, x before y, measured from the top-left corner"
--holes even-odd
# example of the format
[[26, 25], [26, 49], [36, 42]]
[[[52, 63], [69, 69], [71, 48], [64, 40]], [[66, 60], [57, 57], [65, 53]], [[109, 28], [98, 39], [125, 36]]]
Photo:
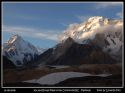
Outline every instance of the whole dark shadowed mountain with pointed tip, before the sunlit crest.
[[100, 47], [89, 44], [78, 44], [68, 38], [58, 44], [55, 49], [49, 49], [39, 57], [39, 63], [47, 65], [80, 65], [80, 64], [110, 64], [116, 61]]

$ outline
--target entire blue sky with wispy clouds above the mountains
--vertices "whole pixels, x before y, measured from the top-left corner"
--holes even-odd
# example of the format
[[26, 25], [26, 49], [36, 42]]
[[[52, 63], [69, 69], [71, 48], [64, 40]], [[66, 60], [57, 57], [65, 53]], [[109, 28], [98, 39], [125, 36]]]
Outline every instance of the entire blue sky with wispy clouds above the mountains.
[[70, 24], [92, 16], [123, 18], [121, 2], [2, 2], [2, 43], [18, 34], [41, 48], [55, 46]]

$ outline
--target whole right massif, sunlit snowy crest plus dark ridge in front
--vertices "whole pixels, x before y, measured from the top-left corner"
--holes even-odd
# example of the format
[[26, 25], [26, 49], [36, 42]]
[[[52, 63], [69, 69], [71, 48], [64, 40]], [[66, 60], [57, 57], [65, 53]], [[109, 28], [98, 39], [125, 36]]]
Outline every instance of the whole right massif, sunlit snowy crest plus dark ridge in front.
[[122, 20], [101, 16], [72, 24], [60, 36], [59, 44], [40, 55], [39, 63], [80, 65], [121, 62], [122, 28]]

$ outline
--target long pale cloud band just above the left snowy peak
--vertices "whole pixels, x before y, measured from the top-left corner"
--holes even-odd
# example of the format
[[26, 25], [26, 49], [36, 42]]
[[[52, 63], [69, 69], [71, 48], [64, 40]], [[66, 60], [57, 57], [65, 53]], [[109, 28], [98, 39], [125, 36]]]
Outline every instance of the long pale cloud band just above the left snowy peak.
[[39, 39], [49, 39], [54, 41], [58, 41], [58, 36], [60, 34], [60, 31], [58, 30], [35, 29], [35, 28], [14, 27], [14, 26], [3, 26], [2, 31], [11, 34], [19, 34], [22, 36], [28, 36]]

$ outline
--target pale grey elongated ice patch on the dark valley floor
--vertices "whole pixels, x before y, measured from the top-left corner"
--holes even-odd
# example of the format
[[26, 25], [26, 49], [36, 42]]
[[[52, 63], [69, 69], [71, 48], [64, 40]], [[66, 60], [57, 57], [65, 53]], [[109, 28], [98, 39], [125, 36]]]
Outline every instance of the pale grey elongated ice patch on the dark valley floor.
[[27, 80], [24, 82], [39, 83], [39, 84], [43, 84], [43, 85], [54, 85], [54, 84], [60, 83], [61, 81], [64, 81], [69, 78], [74, 78], [74, 77], [85, 77], [85, 76], [106, 77], [109, 75], [111, 75], [111, 74], [92, 75], [89, 73], [81, 73], [81, 72], [57, 72], [57, 73], [48, 74], [39, 79]]

